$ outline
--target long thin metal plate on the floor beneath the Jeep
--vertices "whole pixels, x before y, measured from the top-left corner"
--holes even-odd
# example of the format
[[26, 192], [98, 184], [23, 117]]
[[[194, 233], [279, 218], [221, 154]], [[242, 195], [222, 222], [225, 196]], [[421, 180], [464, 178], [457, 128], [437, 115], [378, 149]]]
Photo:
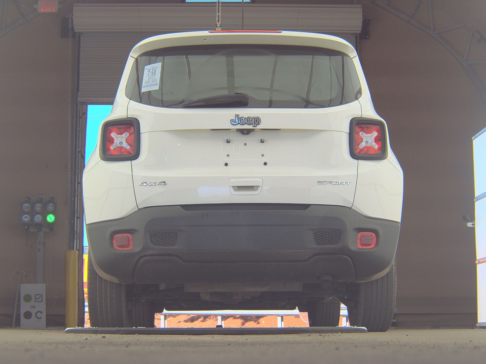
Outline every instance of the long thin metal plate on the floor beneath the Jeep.
[[368, 332], [364, 327], [285, 327], [285, 328], [68, 328], [64, 332], [78, 334], [121, 335], [276, 335], [311, 333]]

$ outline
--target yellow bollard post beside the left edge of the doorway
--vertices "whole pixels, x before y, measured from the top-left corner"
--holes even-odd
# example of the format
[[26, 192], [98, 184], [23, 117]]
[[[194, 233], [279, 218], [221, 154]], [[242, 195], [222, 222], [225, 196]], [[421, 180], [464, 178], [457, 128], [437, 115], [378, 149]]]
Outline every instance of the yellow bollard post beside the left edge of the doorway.
[[78, 251], [66, 250], [65, 326], [78, 326]]

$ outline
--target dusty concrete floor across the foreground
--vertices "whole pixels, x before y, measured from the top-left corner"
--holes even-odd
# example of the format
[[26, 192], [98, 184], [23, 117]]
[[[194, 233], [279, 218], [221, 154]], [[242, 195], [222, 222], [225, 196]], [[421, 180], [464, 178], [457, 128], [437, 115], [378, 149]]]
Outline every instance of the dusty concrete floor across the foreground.
[[486, 330], [301, 335], [101, 335], [0, 330], [0, 363], [485, 363]]

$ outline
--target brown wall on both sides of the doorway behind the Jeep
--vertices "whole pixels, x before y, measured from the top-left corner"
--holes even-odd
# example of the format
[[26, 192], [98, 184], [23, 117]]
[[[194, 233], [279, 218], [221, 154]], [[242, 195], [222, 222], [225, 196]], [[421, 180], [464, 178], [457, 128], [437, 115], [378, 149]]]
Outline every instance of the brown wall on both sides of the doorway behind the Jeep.
[[[375, 108], [388, 123], [391, 146], [405, 174], [397, 255], [398, 324], [473, 325], [474, 231], [461, 216], [474, 213], [471, 136], [486, 126], [485, 105], [459, 62], [436, 40], [371, 0], [359, 3], [364, 17], [373, 19], [371, 39], [361, 42], [361, 61]], [[416, 2], [391, 2], [409, 13], [414, 8], [410, 9], [411, 3]], [[39, 192], [58, 201], [56, 231], [45, 238], [44, 277], [48, 314], [64, 313], [68, 40], [59, 32], [60, 17], [69, 11], [64, 4], [60, 13], [35, 17], [0, 38], [5, 155], [0, 161], [0, 325], [10, 324], [11, 290], [16, 284], [12, 274], [23, 269], [30, 281], [35, 280], [35, 249], [25, 245], [19, 203]], [[427, 19], [424, 11], [426, 7], [417, 10], [417, 19]], [[437, 21], [445, 24], [450, 21], [447, 17], [438, 13]], [[459, 45], [463, 41], [449, 36]], [[29, 234], [28, 243], [34, 239], [35, 234]]]

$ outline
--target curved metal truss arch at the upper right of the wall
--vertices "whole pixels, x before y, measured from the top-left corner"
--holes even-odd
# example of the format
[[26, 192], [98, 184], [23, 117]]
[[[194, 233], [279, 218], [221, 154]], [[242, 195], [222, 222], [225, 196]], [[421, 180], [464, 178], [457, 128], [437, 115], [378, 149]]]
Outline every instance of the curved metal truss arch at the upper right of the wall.
[[[385, 9], [386, 11], [396, 15], [397, 17], [400, 17], [401, 19], [405, 20], [407, 23], [410, 23], [420, 30], [424, 31], [425, 33], [431, 35], [432, 37], [435, 38], [440, 44], [442, 44], [447, 50], [449, 50], [452, 55], [459, 61], [461, 66], [464, 68], [466, 71], [466, 74], [468, 75], [469, 79], [473, 83], [474, 87], [476, 88], [476, 91], [479, 93], [481, 96], [481, 99], [483, 100], [483, 103], [486, 105], [486, 88], [483, 83], [481, 83], [480, 79], [476, 75], [476, 72], [472, 69], [471, 65], [486, 65], [486, 59], [484, 60], [468, 60], [469, 56], [469, 51], [471, 47], [471, 42], [474, 37], [477, 38], [478, 43], [480, 43], [483, 39], [486, 41], [484, 36], [479, 33], [479, 32], [474, 32], [470, 30], [466, 24], [461, 23], [461, 24], [454, 24], [449, 27], [443, 28], [443, 29], [435, 29], [434, 26], [434, 5], [432, 0], [426, 0], [428, 3], [428, 12], [429, 12], [429, 25], [425, 25], [420, 23], [419, 21], [414, 19], [414, 15], [417, 12], [417, 9], [419, 6], [422, 4], [422, 1], [424, 0], [417, 0], [417, 6], [415, 7], [415, 10], [412, 12], [412, 14], [409, 16], [402, 11], [394, 8], [393, 6], [390, 5], [391, 1], [390, 0], [375, 0], [373, 1], [375, 5], [380, 6], [381, 8]], [[461, 52], [461, 50], [457, 50], [451, 43], [449, 43], [446, 39], [444, 39], [440, 34], [445, 33], [445, 32], [452, 32], [457, 29], [461, 28], [467, 28], [469, 30], [469, 38], [468, 42], [466, 44], [466, 49]]]

